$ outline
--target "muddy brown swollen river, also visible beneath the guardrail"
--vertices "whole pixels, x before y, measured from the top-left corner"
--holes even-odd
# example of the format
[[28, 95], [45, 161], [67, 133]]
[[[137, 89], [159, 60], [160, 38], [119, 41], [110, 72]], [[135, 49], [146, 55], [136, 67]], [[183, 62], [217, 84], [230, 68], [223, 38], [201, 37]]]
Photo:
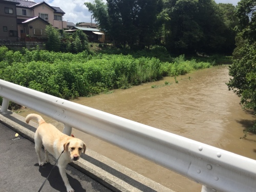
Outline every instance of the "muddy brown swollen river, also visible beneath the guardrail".
[[[179, 76], [178, 83], [174, 77], [166, 77], [131, 89], [78, 98], [73, 102], [256, 160], [256, 135], [240, 139], [244, 135], [243, 129], [253, 124], [255, 116], [241, 109], [240, 98], [228, 91], [225, 84], [228, 79], [228, 66], [219, 66]], [[170, 84], [165, 85], [165, 81]], [[29, 113], [36, 112], [23, 109], [19, 115]], [[62, 130], [61, 123], [44, 118]], [[85, 141], [91, 150], [170, 189], [201, 191], [200, 184], [166, 168], [78, 130], [73, 129], [72, 134]]]

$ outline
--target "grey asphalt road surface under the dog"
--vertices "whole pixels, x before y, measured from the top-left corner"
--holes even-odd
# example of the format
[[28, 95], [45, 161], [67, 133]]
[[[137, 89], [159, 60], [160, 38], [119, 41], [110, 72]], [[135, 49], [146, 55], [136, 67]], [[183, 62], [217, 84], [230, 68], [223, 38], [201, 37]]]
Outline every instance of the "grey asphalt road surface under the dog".
[[[50, 163], [39, 166], [34, 143], [18, 137], [20, 139], [12, 140], [15, 132], [0, 123], [0, 192], [38, 191], [56, 161], [50, 156]], [[44, 159], [43, 150], [41, 155]], [[70, 185], [76, 192], [111, 191], [70, 165], [66, 170]], [[67, 191], [57, 166], [41, 191]]]

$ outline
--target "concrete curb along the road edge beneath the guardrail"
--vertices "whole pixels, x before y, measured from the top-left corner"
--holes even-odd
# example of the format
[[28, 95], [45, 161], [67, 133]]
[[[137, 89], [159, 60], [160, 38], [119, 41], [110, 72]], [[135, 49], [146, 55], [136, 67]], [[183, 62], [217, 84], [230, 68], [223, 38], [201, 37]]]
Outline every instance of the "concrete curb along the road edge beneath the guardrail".
[[[27, 124], [24, 117], [11, 111], [0, 113], [0, 122], [10, 127], [20, 136], [34, 142], [37, 123], [31, 121], [30, 124]], [[174, 192], [88, 148], [86, 154], [81, 157], [78, 161], [70, 163], [70, 165], [112, 191]]]

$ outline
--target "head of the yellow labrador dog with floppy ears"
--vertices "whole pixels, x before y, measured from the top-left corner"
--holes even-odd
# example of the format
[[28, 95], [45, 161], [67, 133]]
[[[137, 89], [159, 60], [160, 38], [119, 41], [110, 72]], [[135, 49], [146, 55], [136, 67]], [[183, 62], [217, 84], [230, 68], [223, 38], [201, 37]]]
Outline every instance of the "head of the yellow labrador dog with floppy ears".
[[86, 144], [77, 138], [70, 139], [63, 147], [64, 152], [70, 153], [70, 157], [73, 161], [78, 160], [82, 152], [86, 153]]

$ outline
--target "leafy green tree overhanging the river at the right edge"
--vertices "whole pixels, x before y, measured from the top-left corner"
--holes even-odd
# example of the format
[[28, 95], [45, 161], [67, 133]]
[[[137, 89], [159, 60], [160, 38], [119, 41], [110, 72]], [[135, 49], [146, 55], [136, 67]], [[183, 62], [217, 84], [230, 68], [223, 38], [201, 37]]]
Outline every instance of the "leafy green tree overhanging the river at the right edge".
[[[236, 26], [236, 49], [233, 52], [233, 64], [229, 68], [232, 76], [227, 83], [241, 97], [244, 109], [256, 113], [256, 2], [241, 0], [236, 8], [239, 24]], [[248, 129], [256, 133], [256, 123]]]

